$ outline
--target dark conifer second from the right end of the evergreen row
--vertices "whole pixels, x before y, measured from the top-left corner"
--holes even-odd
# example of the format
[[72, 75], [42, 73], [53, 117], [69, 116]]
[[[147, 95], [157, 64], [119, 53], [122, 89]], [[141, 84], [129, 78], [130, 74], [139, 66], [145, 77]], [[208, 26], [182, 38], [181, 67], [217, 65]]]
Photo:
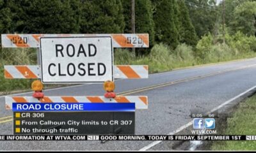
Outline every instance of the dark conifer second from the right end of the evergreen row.
[[156, 41], [163, 42], [172, 48], [176, 48], [178, 41], [178, 31], [175, 26], [175, 14], [173, 8], [174, 0], [162, 0], [156, 6], [154, 15]]

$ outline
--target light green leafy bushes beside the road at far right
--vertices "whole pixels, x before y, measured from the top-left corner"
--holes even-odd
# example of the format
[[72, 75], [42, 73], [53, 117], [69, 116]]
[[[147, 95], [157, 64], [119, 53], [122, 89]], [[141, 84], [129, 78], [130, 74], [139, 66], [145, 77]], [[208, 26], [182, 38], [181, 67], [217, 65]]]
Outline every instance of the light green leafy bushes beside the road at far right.
[[237, 32], [234, 36], [225, 36], [227, 45], [213, 43], [209, 33], [202, 37], [196, 45], [196, 58], [199, 63], [220, 62], [239, 57], [248, 57], [255, 52], [256, 38]]

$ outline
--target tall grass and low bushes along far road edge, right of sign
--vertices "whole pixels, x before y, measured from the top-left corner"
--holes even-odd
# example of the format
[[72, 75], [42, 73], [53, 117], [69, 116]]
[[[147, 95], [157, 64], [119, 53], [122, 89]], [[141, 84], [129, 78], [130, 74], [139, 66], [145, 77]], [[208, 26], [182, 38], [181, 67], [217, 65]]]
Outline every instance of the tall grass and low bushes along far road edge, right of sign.
[[115, 64], [148, 64], [150, 73], [170, 71], [174, 68], [230, 61], [256, 56], [256, 38], [236, 33], [226, 35], [226, 44], [214, 43], [211, 34], [198, 41], [195, 48], [179, 44], [175, 50], [163, 43], [156, 44], [148, 55], [137, 57], [128, 49], [115, 50]]

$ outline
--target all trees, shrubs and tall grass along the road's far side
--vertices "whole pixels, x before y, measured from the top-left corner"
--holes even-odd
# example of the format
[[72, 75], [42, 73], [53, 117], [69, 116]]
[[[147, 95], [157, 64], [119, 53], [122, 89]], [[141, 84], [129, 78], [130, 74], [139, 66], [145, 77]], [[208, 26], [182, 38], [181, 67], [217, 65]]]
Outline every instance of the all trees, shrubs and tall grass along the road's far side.
[[[256, 1], [136, 0], [135, 32], [149, 48], [115, 48], [115, 64], [147, 64], [150, 73], [255, 57]], [[132, 33], [129, 0], [0, 1], [0, 33]], [[0, 47], [0, 92], [29, 89], [31, 80], [4, 79], [4, 65], [36, 64], [35, 48]], [[0, 93], [1, 94], [1, 93]]]

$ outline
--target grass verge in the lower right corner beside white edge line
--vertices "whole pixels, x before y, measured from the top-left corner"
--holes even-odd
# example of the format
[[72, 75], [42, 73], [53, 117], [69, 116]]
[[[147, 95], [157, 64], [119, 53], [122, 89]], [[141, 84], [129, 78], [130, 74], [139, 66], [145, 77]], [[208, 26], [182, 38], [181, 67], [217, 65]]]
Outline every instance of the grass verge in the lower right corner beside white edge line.
[[[256, 95], [241, 103], [231, 118], [227, 119], [227, 129], [223, 135], [255, 135]], [[256, 141], [214, 142], [211, 150], [256, 150]]]

